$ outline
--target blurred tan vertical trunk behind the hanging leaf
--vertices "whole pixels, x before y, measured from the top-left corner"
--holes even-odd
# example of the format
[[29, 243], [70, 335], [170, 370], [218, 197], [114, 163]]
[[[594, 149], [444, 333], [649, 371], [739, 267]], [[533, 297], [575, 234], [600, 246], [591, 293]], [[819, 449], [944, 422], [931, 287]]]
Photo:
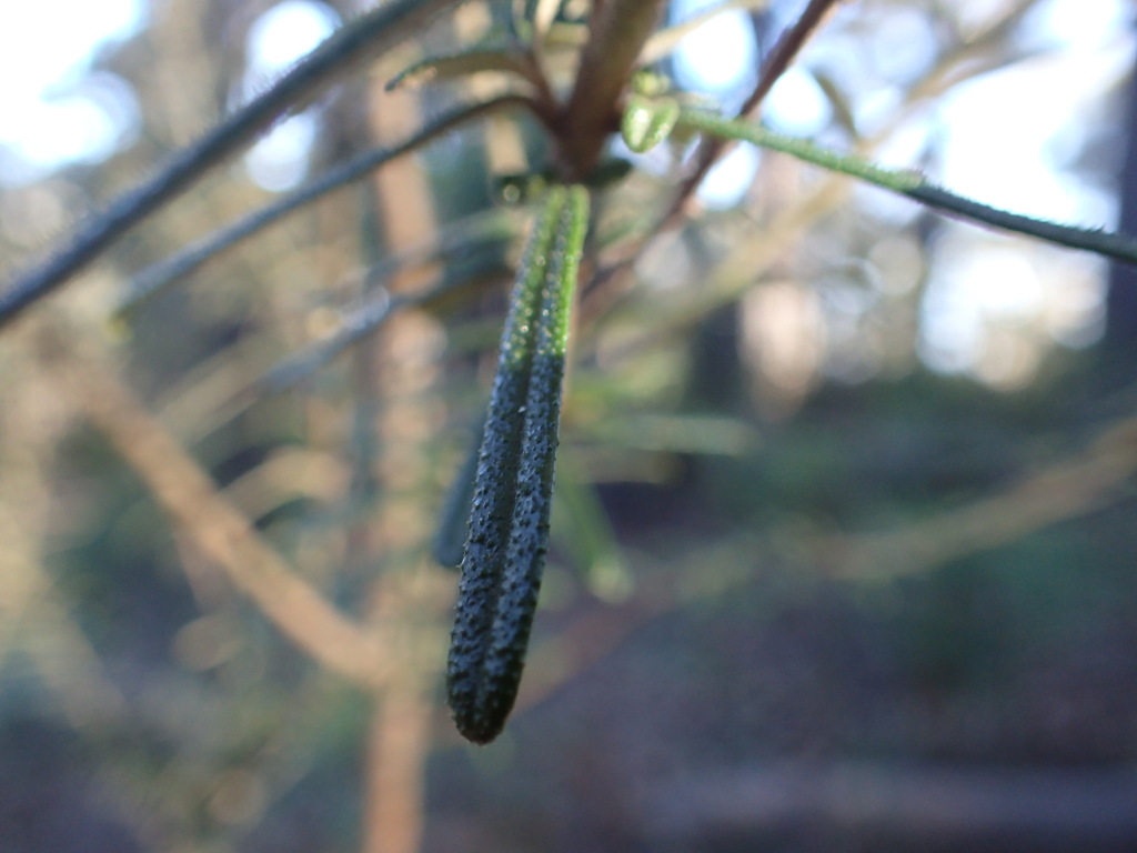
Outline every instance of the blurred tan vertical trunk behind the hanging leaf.
[[[468, 14], [468, 13], [466, 13]], [[372, 134], [383, 140], [408, 130], [422, 108], [408, 93], [398, 113], [375, 110]], [[374, 205], [381, 210], [382, 245], [397, 255], [413, 250], [437, 227], [435, 199], [423, 171], [410, 162], [376, 173]], [[415, 276], [404, 271], [389, 284], [406, 291]], [[371, 338], [356, 353], [352, 383], [356, 417], [351, 454], [357, 488], [370, 482], [379, 497], [373, 517], [349, 528], [356, 560], [376, 550], [422, 555], [429, 529], [423, 506], [431, 431], [437, 422], [437, 350], [430, 341], [435, 321], [417, 314], [393, 318], [382, 338]], [[363, 487], [367, 488], [367, 487]], [[422, 565], [422, 557], [393, 557], [368, 591], [367, 621], [392, 651], [391, 677], [373, 696], [363, 788], [363, 853], [416, 853], [425, 828], [424, 776], [430, 723], [442, 648], [445, 616], [453, 601], [453, 579]]]

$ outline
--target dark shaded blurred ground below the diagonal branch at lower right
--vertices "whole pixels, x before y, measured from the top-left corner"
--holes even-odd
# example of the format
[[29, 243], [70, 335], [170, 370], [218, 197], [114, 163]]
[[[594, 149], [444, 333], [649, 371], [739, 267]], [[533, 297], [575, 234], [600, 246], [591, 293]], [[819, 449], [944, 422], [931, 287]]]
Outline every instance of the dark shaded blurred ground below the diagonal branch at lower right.
[[1131, 517], [657, 619], [438, 756], [426, 850], [1137, 850]]

